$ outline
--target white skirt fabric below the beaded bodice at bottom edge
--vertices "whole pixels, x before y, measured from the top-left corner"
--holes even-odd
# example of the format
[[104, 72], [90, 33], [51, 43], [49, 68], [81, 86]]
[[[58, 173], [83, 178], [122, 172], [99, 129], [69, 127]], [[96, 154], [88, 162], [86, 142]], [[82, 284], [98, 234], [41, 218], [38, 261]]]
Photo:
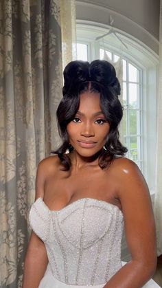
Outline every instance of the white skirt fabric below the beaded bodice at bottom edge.
[[[125, 265], [126, 263], [122, 263], [123, 265]], [[93, 287], [93, 288], [103, 288], [104, 285], [106, 285], [106, 283], [100, 284], [100, 285], [67, 285], [65, 283], [62, 283], [61, 281], [57, 280], [56, 278], [54, 278], [54, 276], [51, 274], [51, 269], [48, 265], [47, 270], [45, 272], [44, 277], [42, 278], [42, 280], [40, 281], [40, 285], [38, 286], [38, 288], [87, 288], [87, 287]], [[158, 288], [160, 287], [159, 285], [157, 285], [157, 283], [154, 282], [154, 280], [150, 280], [148, 281], [148, 283], [146, 283], [146, 285], [143, 286], [143, 288]]]

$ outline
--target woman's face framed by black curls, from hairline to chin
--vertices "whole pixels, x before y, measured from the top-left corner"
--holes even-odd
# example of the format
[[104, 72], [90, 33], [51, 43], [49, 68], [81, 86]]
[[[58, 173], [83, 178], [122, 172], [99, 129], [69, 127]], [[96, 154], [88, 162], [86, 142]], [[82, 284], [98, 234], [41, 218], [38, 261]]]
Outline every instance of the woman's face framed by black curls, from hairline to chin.
[[80, 95], [80, 107], [67, 125], [69, 142], [83, 157], [91, 157], [106, 143], [110, 125], [100, 108], [100, 94], [90, 91]]

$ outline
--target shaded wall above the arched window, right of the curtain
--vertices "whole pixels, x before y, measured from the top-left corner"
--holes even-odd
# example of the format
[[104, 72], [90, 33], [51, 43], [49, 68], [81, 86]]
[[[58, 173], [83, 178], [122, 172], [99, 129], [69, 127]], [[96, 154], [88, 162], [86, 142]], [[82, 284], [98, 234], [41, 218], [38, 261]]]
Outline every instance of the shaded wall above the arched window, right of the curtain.
[[109, 25], [146, 44], [159, 54], [160, 0], [76, 0], [76, 19]]

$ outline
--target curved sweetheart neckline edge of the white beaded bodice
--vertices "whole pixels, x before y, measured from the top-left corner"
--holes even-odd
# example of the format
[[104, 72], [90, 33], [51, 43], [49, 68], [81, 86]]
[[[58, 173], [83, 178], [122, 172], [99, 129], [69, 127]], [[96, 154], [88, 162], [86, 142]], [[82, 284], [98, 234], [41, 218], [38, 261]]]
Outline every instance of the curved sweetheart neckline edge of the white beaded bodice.
[[59, 212], [61, 212], [62, 210], [65, 210], [66, 208], [68, 208], [69, 206], [72, 206], [74, 203], [77, 203], [77, 202], [79, 202], [79, 201], [83, 201], [83, 200], [86, 200], [86, 199], [87, 199], [87, 200], [91, 200], [91, 201], [95, 201], [95, 202], [105, 203], [105, 204], [108, 205], [108, 206], [113, 206], [114, 208], [117, 208], [117, 210], [119, 210], [119, 212], [121, 212], [121, 214], [123, 215], [122, 210], [120, 210], [117, 205], [114, 205], [114, 204], [112, 204], [112, 203], [106, 202], [106, 201], [104, 201], [104, 200], [99, 200], [99, 199], [95, 199], [95, 198], [91, 198], [91, 197], [84, 197], [84, 198], [77, 199], [77, 200], [69, 203], [67, 206], [61, 208], [60, 210], [51, 210], [51, 209], [49, 209], [49, 207], [47, 206], [47, 204], [45, 203], [45, 201], [43, 201], [43, 197], [38, 197], [38, 198], [36, 199], [36, 201], [37, 201], [38, 199], [40, 199], [40, 200], [42, 201], [43, 205], [45, 206], [45, 208], [46, 208], [49, 212], [53, 212], [53, 213], [59, 213]]

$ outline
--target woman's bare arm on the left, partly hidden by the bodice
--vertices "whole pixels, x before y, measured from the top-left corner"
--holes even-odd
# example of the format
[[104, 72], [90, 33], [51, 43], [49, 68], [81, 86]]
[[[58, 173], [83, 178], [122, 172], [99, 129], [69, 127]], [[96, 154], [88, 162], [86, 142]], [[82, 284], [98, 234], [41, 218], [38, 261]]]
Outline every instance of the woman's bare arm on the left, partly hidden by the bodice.
[[[44, 195], [45, 163], [45, 160], [43, 160], [38, 165], [36, 174], [36, 199]], [[38, 288], [40, 280], [45, 274], [47, 263], [48, 259], [45, 245], [43, 241], [32, 232], [25, 256], [23, 288]]]

